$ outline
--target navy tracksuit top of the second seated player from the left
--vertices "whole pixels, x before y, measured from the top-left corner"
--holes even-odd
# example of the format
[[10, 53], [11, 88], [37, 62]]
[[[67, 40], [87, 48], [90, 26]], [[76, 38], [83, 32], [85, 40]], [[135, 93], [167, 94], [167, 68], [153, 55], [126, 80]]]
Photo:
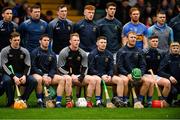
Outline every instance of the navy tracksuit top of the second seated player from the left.
[[56, 54], [51, 50], [43, 50], [41, 47], [31, 52], [32, 74], [36, 73], [41, 76], [48, 74], [51, 78], [57, 73]]

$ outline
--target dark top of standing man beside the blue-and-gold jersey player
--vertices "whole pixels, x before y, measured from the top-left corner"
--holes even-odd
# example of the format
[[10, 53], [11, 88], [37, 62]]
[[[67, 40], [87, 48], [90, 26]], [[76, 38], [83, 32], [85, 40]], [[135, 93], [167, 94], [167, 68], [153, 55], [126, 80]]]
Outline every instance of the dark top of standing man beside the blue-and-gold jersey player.
[[122, 45], [122, 23], [116, 18], [113, 20], [102, 18], [97, 21], [97, 25], [100, 29], [100, 35], [107, 37], [107, 49], [112, 53], [116, 53]]

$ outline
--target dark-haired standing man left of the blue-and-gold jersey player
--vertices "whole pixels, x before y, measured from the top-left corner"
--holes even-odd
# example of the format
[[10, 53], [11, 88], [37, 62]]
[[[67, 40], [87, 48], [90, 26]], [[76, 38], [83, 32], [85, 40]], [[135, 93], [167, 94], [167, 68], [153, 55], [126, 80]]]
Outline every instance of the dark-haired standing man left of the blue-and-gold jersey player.
[[122, 44], [122, 24], [114, 17], [115, 12], [116, 4], [114, 2], [109, 2], [106, 4], [106, 17], [97, 21], [100, 35], [107, 38], [107, 49], [113, 53], [114, 60], [116, 58], [116, 53]]

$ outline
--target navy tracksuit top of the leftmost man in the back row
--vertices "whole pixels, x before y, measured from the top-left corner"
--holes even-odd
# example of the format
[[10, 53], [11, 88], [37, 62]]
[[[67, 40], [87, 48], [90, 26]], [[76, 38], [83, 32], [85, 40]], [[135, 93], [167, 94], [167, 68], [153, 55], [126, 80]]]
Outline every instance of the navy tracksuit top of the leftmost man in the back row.
[[16, 31], [18, 28], [18, 25], [11, 21], [11, 22], [5, 22], [3, 20], [0, 21], [0, 51], [8, 46], [10, 44], [10, 34], [14, 31]]

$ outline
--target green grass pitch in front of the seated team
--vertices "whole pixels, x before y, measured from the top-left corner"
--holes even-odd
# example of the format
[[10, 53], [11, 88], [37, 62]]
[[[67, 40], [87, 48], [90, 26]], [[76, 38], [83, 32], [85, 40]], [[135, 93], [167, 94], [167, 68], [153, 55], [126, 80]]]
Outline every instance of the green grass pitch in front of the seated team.
[[[31, 108], [5, 108], [6, 97], [0, 97], [0, 119], [180, 119], [180, 108], [36, 108], [33, 93], [28, 101]], [[65, 100], [63, 99], [63, 104]]]

